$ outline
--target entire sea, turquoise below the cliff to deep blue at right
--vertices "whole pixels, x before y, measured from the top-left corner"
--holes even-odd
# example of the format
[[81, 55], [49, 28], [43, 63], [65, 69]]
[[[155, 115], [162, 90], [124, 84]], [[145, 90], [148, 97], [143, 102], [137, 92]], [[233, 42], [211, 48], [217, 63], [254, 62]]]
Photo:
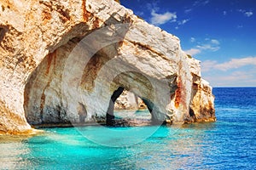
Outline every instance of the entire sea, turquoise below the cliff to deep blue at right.
[[256, 88], [213, 88], [213, 94], [217, 122], [2, 136], [0, 169], [256, 169]]

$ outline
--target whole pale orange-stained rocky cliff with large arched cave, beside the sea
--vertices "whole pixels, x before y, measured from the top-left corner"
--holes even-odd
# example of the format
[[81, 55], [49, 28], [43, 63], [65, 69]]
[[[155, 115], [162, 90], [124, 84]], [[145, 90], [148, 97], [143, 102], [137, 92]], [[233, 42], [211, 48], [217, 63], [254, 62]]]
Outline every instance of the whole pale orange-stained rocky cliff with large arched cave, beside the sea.
[[107, 112], [111, 121], [124, 89], [143, 99], [153, 122], [215, 121], [199, 61], [183, 53], [177, 37], [119, 3], [9, 0], [0, 6], [0, 133], [32, 133], [29, 124], [100, 122]]

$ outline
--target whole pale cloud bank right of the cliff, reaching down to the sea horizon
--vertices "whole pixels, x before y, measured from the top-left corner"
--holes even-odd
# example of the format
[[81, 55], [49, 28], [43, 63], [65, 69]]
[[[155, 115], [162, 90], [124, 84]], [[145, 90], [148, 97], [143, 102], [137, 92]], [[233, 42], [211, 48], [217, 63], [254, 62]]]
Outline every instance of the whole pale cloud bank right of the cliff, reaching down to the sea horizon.
[[206, 60], [201, 62], [201, 72], [213, 86], [256, 86], [256, 56], [222, 63]]

